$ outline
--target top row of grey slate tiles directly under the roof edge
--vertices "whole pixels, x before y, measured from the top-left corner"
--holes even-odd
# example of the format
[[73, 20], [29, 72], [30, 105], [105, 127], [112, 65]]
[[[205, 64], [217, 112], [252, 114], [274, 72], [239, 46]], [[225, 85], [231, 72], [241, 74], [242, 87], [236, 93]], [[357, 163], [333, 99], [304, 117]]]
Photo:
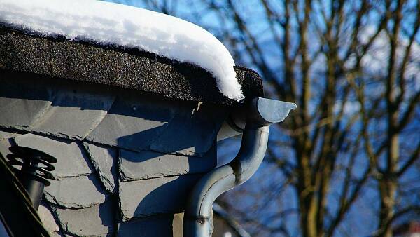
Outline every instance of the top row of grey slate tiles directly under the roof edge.
[[[0, 104], [6, 108], [0, 107], [0, 127], [71, 140], [85, 138], [132, 151], [203, 156], [229, 109], [132, 90], [112, 90], [106, 95], [106, 88], [75, 81], [36, 80], [29, 74], [0, 73]], [[32, 115], [20, 121], [21, 114]]]

